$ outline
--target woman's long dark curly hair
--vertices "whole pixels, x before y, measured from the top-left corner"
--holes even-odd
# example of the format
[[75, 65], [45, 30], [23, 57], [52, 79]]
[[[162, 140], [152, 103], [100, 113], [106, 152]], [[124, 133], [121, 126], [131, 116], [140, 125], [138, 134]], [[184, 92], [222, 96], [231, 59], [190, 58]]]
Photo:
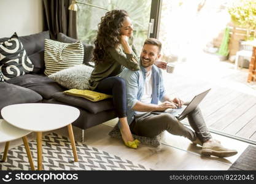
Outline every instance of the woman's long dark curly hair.
[[120, 28], [122, 28], [126, 17], [128, 17], [128, 13], [125, 10], [112, 10], [101, 17], [93, 51], [93, 60], [96, 64], [104, 61], [107, 48], [116, 48], [120, 43]]

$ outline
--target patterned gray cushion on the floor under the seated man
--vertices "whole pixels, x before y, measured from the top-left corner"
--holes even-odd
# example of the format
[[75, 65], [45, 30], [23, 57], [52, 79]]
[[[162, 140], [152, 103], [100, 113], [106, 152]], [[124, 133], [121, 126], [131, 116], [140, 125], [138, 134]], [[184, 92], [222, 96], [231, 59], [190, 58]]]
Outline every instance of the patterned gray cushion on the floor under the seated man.
[[[121, 135], [120, 129], [118, 128], [118, 125], [115, 125], [112, 131], [109, 132], [109, 136], [117, 139], [122, 139], [122, 135]], [[137, 136], [133, 134], [133, 138], [138, 139], [141, 142], [141, 144], [144, 144], [144, 145], [150, 145], [152, 147], [158, 147], [161, 145], [161, 134], [152, 138]]]

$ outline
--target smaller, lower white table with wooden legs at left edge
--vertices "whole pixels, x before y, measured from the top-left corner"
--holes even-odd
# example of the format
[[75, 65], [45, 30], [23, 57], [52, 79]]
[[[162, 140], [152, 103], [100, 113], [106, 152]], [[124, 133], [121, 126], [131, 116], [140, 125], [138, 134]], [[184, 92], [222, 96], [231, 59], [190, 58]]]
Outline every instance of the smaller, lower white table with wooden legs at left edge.
[[4, 155], [2, 156], [2, 162], [6, 161], [10, 141], [22, 137], [31, 170], [34, 171], [34, 163], [29, 149], [28, 139], [26, 139], [26, 135], [28, 135], [30, 132], [31, 131], [26, 131], [25, 129], [20, 129], [12, 126], [5, 120], [0, 119], [0, 142], [6, 143], [6, 146], [4, 147]]

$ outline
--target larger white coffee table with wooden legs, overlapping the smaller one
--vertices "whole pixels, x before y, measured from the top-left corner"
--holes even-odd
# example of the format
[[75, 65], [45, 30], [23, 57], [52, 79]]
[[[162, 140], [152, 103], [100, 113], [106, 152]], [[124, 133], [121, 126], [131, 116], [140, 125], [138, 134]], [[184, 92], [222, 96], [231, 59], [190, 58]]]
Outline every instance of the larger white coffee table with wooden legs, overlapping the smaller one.
[[80, 115], [77, 108], [60, 104], [15, 104], [4, 107], [1, 110], [1, 115], [4, 120], [17, 128], [36, 132], [38, 170], [42, 170], [42, 132], [64, 126], [68, 126], [74, 161], [78, 161], [71, 125]]

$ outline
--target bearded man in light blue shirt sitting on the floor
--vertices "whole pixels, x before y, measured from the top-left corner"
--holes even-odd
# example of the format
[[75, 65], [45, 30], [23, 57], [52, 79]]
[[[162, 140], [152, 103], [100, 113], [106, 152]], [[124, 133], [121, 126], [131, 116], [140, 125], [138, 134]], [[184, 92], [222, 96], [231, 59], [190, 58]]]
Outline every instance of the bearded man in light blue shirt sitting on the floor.
[[[179, 108], [184, 104], [179, 98], [170, 99], [165, 94], [161, 70], [154, 65], [160, 58], [161, 42], [147, 39], [142, 48], [139, 71], [125, 69], [121, 77], [126, 80], [128, 123], [131, 132], [138, 136], [154, 137], [163, 131], [184, 136], [193, 144], [203, 145], [201, 154], [206, 156], [228, 157], [238, 153], [224, 148], [212, 136], [198, 107], [188, 113], [187, 118], [192, 129], [187, 128], [169, 113], [156, 114], [169, 108]], [[161, 101], [161, 104], [158, 104]]]

